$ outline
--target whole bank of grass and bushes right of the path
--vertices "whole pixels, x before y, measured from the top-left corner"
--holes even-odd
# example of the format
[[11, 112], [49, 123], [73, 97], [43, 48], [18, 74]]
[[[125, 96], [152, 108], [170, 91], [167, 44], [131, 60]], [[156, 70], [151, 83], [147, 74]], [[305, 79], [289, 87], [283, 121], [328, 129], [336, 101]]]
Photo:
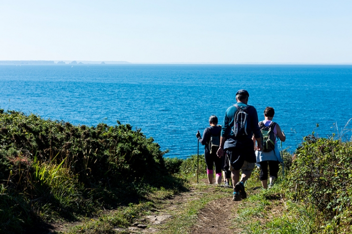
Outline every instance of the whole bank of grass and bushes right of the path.
[[305, 137], [286, 177], [244, 200], [233, 226], [253, 234], [351, 233], [351, 160], [351, 141]]

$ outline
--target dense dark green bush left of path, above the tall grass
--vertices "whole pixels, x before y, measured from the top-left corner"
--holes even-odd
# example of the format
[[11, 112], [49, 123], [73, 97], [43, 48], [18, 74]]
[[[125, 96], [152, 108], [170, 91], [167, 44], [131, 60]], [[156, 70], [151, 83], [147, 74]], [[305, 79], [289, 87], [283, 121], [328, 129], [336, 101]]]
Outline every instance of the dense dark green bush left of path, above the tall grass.
[[111, 186], [119, 184], [121, 177], [134, 181], [165, 172], [164, 152], [159, 145], [128, 124], [74, 126], [10, 111], [0, 114], [0, 127], [0, 158], [5, 167], [0, 179], [7, 179], [11, 169], [8, 160], [14, 167], [27, 166], [34, 155], [42, 162], [54, 158], [54, 163], [59, 164], [65, 160], [64, 166], [86, 185]]

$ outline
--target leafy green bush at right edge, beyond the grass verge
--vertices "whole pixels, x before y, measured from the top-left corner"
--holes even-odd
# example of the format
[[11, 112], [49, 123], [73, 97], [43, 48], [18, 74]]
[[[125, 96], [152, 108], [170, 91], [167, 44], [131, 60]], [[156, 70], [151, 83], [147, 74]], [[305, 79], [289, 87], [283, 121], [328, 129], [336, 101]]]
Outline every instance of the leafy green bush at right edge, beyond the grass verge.
[[336, 225], [351, 220], [351, 165], [352, 142], [307, 136], [288, 175], [289, 196], [314, 205]]

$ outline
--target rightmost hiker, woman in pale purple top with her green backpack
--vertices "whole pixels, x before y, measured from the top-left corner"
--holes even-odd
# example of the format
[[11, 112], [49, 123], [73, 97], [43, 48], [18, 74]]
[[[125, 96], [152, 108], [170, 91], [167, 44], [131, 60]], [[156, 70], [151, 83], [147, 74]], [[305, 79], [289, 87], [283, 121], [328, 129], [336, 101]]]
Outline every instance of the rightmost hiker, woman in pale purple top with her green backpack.
[[259, 179], [264, 188], [267, 188], [268, 185], [268, 165], [270, 172], [269, 188], [271, 188], [274, 185], [274, 180], [278, 177], [279, 163], [282, 162], [276, 137], [279, 137], [281, 141], [286, 140], [285, 133], [281, 130], [280, 125], [272, 121], [274, 114], [273, 107], [266, 107], [264, 120], [258, 123], [262, 133], [263, 148], [262, 150], [256, 150], [256, 156], [257, 162], [260, 164]]

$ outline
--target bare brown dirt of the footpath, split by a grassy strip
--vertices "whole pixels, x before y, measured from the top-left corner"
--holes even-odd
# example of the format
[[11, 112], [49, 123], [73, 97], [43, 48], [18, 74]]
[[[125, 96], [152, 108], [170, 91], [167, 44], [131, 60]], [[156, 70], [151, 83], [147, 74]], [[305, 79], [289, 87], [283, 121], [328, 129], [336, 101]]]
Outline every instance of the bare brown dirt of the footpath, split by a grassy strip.
[[[203, 184], [203, 185], [201, 185]], [[222, 192], [224, 197], [221, 199], [211, 200], [205, 205], [204, 208], [199, 210], [197, 215], [196, 223], [191, 227], [189, 233], [200, 234], [200, 233], [216, 233], [216, 234], [232, 234], [241, 233], [241, 229], [233, 229], [233, 219], [237, 214], [236, 208], [241, 201], [232, 200], [232, 189], [224, 189], [219, 191], [216, 185], [204, 185], [206, 180], [201, 180], [199, 184], [193, 184], [190, 186], [187, 192], [175, 195], [172, 199], [162, 200], [159, 205], [160, 208], [153, 210], [153, 213], [145, 217], [136, 219], [136, 221], [127, 228], [116, 227], [114, 231], [116, 233], [158, 233], [165, 230], [165, 225], [169, 221], [172, 221], [174, 215], [178, 215], [184, 210], [192, 200], [200, 199], [201, 197], [214, 194], [214, 192]], [[202, 189], [199, 189], [199, 185]], [[69, 226], [77, 225], [79, 223], [55, 223], [51, 228], [47, 228], [47, 231], [43, 232], [27, 232], [27, 233], [57, 233], [67, 231]], [[36, 229], [38, 231], [38, 229]], [[50, 231], [49, 231], [50, 230]]]

